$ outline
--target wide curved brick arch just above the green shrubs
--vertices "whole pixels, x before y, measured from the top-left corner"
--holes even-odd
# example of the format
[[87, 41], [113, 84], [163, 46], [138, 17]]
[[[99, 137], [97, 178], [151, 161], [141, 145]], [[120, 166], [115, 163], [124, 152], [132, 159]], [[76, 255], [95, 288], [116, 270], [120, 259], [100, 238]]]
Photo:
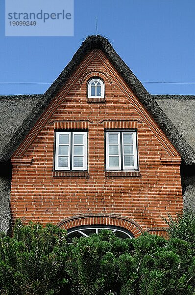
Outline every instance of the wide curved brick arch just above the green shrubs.
[[57, 224], [57, 227], [69, 230], [73, 227], [86, 225], [106, 225], [124, 228], [132, 233], [134, 237], [143, 232], [141, 226], [132, 219], [110, 214], [82, 214], [68, 217]]

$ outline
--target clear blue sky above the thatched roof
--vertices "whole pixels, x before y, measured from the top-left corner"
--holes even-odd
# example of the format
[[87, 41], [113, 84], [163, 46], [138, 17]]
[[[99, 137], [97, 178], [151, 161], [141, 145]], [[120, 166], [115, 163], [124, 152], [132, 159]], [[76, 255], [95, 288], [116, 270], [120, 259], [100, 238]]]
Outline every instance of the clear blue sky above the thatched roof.
[[5, 37], [4, 11], [0, 0], [0, 95], [44, 93], [96, 34], [95, 17], [98, 33], [150, 93], [195, 94], [194, 0], [74, 0], [73, 37]]

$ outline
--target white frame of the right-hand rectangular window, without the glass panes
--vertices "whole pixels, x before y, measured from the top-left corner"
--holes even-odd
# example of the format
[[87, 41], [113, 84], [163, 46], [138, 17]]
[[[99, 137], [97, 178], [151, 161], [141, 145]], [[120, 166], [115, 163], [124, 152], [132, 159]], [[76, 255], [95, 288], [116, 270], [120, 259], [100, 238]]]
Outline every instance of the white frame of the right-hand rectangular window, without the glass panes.
[[[105, 131], [105, 151], [106, 151], [106, 170], [138, 170], [138, 148], [137, 148], [137, 138], [136, 131]], [[119, 143], [119, 166], [109, 166], [109, 134], [118, 134], [118, 143]], [[132, 146], [133, 146], [133, 166], [124, 166], [124, 144], [123, 144], [123, 135], [132, 134]]]

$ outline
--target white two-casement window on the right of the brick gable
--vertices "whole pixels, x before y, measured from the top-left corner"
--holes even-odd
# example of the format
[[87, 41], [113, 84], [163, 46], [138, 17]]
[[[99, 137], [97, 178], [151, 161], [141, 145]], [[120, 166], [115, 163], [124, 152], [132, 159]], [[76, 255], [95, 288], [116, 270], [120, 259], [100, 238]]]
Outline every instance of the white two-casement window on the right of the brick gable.
[[106, 170], [137, 170], [135, 131], [106, 131]]

